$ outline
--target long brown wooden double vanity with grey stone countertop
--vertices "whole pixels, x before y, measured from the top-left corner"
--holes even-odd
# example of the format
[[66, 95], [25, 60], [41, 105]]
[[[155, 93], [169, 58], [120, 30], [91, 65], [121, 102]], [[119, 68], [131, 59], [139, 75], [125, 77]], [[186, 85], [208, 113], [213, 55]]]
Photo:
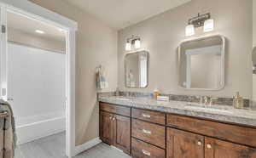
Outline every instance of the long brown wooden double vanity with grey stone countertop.
[[132, 157], [256, 157], [254, 110], [114, 96], [99, 101], [100, 138]]

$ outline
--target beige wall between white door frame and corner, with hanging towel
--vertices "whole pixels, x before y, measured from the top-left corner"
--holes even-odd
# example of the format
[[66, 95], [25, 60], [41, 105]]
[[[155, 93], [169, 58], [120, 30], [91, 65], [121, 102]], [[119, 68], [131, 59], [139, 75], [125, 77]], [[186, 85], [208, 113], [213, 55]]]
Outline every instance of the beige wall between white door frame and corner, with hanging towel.
[[63, 0], [31, 0], [79, 23], [76, 66], [76, 144], [99, 136], [96, 66], [105, 66], [109, 88], [117, 86], [117, 31]]

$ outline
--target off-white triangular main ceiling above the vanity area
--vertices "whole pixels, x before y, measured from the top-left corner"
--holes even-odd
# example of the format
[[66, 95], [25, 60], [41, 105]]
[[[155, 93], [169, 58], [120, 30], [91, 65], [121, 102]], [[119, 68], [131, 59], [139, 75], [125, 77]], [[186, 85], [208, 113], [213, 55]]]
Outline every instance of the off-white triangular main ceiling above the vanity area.
[[146, 20], [190, 0], [66, 0], [116, 29]]

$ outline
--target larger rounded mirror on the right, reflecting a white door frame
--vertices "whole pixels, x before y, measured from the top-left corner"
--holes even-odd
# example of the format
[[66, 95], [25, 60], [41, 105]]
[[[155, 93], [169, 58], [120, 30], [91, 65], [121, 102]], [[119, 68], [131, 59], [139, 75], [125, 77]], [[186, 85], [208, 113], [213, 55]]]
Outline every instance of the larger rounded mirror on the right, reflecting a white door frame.
[[201, 37], [178, 48], [178, 84], [186, 89], [219, 90], [224, 87], [225, 38]]

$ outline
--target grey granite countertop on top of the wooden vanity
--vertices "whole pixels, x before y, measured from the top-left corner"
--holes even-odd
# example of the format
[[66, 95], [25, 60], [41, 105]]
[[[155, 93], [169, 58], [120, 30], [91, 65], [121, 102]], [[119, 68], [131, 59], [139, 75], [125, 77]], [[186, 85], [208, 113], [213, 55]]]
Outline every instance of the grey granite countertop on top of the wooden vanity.
[[256, 110], [234, 109], [230, 105], [212, 105], [205, 108], [200, 104], [181, 101], [157, 101], [139, 97], [99, 96], [98, 101], [119, 104], [144, 110], [157, 110], [184, 116], [196, 116], [215, 121], [225, 121], [256, 127]]

